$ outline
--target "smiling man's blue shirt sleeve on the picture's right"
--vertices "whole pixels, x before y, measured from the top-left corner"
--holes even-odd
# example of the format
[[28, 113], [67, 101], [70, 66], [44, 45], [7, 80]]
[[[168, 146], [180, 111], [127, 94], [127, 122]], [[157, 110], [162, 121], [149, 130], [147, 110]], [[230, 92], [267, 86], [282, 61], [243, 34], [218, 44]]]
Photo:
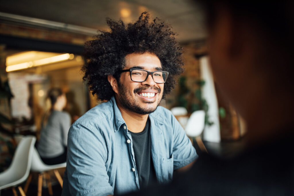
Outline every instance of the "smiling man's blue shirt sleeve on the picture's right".
[[173, 169], [184, 167], [198, 158], [191, 140], [185, 133], [185, 130], [172, 115], [174, 145], [173, 145]]

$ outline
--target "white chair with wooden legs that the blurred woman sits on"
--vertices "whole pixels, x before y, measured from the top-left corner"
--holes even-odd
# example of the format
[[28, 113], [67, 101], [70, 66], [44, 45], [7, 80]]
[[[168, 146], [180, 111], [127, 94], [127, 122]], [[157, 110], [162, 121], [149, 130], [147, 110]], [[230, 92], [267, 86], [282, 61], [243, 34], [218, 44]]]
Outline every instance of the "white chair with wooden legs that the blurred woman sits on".
[[[57, 171], [58, 168], [62, 168], [62, 167], [66, 167], [66, 162], [65, 163], [61, 163], [61, 164], [56, 164], [56, 165], [46, 165], [38, 151], [36, 148], [33, 149], [33, 157], [32, 157], [32, 164], [31, 164], [31, 171], [32, 172], [38, 172], [39, 176], [38, 176], [38, 196], [42, 195], [42, 180], [43, 180], [43, 175], [47, 181], [48, 184], [48, 192], [49, 195], [53, 195], [52, 192], [52, 187], [51, 187], [51, 182], [50, 182], [50, 175], [49, 175], [49, 171], [53, 170], [61, 188], [62, 188], [62, 183], [63, 180], [59, 174], [59, 172]], [[31, 178], [32, 178], [32, 174], [29, 175], [28, 180], [26, 181], [26, 185], [24, 187], [24, 192], [26, 193], [26, 191], [28, 190], [29, 184], [31, 182]]]

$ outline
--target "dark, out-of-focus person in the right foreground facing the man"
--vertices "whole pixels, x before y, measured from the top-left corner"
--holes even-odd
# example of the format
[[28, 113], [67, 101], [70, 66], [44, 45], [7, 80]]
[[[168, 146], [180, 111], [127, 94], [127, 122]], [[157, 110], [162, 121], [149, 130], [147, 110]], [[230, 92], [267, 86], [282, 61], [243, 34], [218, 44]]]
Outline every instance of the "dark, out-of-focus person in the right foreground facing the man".
[[216, 83], [247, 122], [231, 158], [200, 156], [171, 185], [131, 195], [294, 195], [293, 1], [203, 1]]

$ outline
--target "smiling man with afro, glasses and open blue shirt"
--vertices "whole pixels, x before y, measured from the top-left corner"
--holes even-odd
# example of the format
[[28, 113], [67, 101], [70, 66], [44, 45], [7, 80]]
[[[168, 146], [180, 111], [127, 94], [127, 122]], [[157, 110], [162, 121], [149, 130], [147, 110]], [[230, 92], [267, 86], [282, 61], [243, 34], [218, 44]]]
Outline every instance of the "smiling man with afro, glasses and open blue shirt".
[[171, 26], [107, 19], [86, 43], [84, 79], [107, 102], [71, 126], [62, 195], [113, 195], [171, 182], [198, 157], [171, 112], [158, 106], [182, 73], [182, 48]]

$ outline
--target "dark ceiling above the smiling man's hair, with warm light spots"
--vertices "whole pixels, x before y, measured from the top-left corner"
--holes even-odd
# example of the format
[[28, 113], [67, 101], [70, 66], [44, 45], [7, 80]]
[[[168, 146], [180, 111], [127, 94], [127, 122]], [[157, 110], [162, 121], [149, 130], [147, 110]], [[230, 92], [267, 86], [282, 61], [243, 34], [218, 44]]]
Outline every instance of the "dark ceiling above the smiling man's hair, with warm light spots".
[[[182, 42], [203, 39], [203, 15], [191, 0], [0, 0], [0, 12], [87, 27], [95, 32], [107, 29], [105, 18], [125, 22], [138, 19], [143, 11], [165, 19], [179, 33]], [[0, 14], [1, 14], [0, 13]], [[92, 32], [92, 31], [91, 31]]]

